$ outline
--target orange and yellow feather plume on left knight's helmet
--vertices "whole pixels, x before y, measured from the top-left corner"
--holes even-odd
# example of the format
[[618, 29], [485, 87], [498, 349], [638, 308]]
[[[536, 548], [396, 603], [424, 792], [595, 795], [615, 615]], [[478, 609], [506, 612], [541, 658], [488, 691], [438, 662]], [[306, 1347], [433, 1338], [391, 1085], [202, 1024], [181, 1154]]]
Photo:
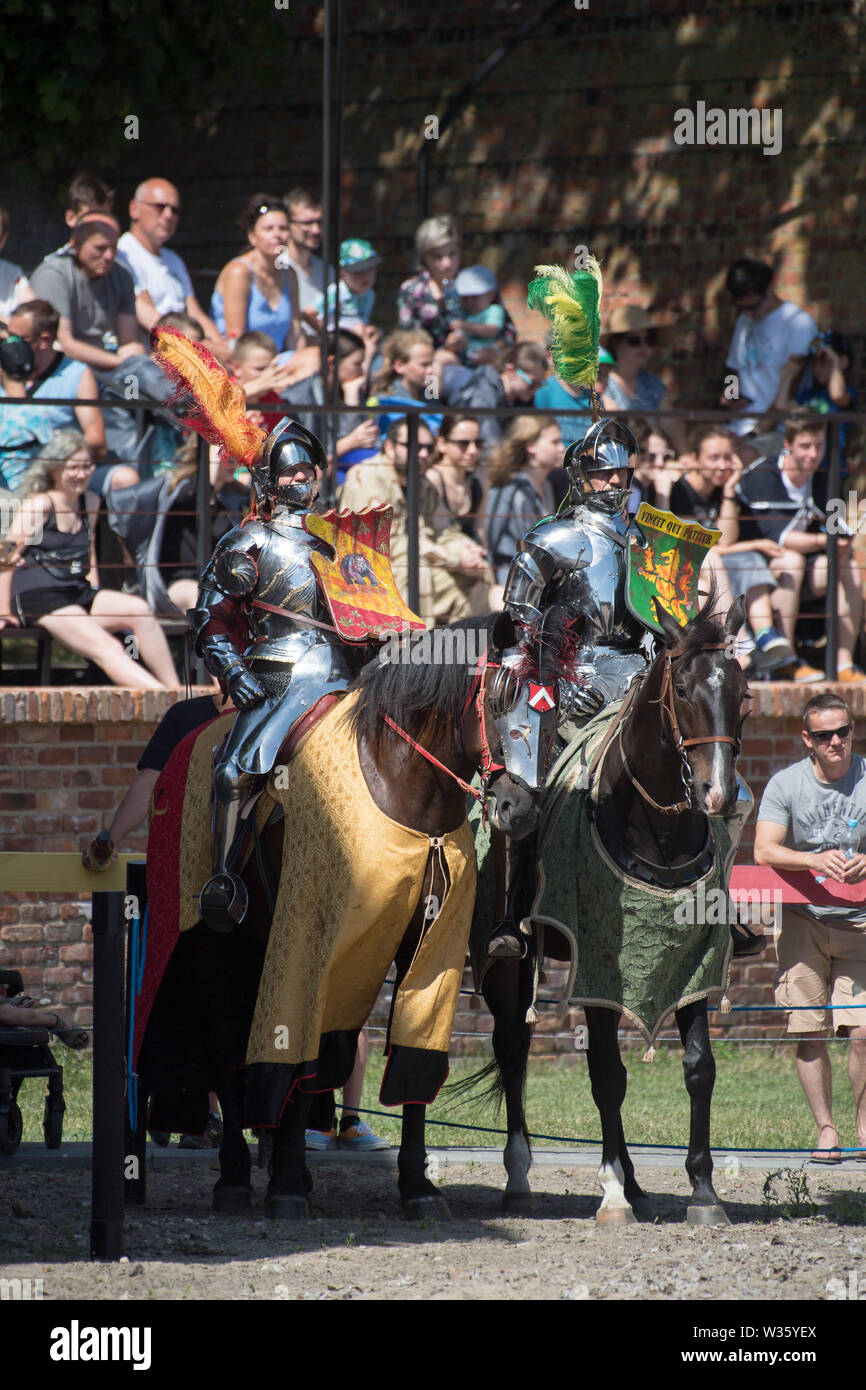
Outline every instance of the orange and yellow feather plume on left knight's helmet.
[[154, 328], [150, 343], [156, 361], [175, 384], [174, 402], [188, 406], [192, 395], [197, 403], [192, 413], [185, 409], [186, 424], [209, 443], [220, 445], [225, 463], [234, 459], [249, 468], [261, 453], [267, 430], [247, 420], [240, 382], [232, 381], [203, 343], [177, 328]]

